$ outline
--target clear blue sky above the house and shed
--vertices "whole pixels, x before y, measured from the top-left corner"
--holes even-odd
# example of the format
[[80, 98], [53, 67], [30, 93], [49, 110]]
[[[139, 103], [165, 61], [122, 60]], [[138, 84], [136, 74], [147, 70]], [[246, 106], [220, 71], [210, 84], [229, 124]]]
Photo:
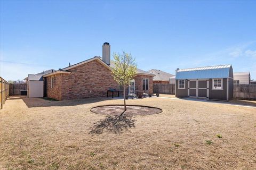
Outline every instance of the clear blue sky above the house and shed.
[[6, 80], [125, 50], [142, 70], [232, 64], [256, 79], [254, 1], [1, 1]]

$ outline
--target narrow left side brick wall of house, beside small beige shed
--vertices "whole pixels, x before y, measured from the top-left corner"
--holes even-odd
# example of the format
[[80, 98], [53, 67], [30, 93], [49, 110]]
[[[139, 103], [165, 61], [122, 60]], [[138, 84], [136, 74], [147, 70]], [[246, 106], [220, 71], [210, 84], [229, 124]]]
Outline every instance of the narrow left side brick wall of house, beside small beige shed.
[[47, 97], [56, 99], [56, 100], [61, 100], [61, 74], [56, 74], [53, 75], [55, 77], [55, 84], [53, 88], [51, 88], [51, 76], [46, 77], [47, 79]]

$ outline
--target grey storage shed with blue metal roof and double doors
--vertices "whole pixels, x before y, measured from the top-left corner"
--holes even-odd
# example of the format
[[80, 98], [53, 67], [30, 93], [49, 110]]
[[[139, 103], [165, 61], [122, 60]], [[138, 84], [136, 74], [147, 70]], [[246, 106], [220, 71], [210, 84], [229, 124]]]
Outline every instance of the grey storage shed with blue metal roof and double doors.
[[233, 69], [231, 65], [177, 69], [175, 96], [230, 100], [233, 98]]

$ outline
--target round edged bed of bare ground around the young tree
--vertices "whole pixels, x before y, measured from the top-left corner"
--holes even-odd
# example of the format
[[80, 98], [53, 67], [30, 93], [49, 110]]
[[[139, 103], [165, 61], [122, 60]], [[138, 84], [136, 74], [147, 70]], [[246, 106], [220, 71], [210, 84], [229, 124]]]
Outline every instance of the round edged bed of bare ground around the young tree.
[[123, 112], [126, 116], [145, 116], [162, 112], [161, 108], [150, 106], [126, 105], [126, 108], [124, 112], [124, 105], [104, 105], [91, 108], [91, 112], [108, 116], [121, 115]]

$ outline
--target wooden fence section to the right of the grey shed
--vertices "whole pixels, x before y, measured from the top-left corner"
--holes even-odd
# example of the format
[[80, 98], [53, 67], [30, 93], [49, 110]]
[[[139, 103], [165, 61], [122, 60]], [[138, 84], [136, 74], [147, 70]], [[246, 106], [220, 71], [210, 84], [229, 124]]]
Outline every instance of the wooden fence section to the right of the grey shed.
[[256, 100], [256, 84], [234, 84], [234, 99]]

